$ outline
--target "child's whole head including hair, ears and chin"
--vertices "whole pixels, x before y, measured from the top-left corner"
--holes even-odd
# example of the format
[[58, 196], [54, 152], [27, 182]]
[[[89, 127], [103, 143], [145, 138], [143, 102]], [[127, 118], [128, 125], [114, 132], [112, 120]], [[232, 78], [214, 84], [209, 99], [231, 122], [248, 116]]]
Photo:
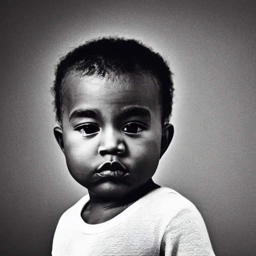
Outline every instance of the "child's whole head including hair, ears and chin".
[[163, 58], [140, 42], [101, 38], [55, 72], [55, 137], [74, 179], [122, 197], [151, 179], [173, 134], [173, 83]]

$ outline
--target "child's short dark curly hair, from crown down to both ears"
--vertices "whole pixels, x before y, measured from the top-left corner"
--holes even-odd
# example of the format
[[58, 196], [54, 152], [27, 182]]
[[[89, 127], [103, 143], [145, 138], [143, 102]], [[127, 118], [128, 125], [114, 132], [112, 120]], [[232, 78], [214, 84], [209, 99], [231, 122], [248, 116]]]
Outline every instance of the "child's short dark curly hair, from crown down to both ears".
[[62, 123], [62, 81], [70, 71], [102, 77], [108, 74], [152, 74], [160, 87], [162, 124], [169, 121], [174, 90], [172, 72], [159, 53], [140, 41], [123, 37], [100, 37], [86, 41], [60, 58], [51, 87], [56, 121], [59, 124]]

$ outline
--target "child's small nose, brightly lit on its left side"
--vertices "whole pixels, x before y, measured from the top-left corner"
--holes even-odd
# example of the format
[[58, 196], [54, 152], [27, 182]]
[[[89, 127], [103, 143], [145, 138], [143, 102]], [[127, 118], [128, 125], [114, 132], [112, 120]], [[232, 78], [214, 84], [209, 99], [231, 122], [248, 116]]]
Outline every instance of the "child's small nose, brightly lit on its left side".
[[100, 145], [98, 147], [98, 153], [100, 155], [105, 154], [123, 154], [125, 146], [122, 141], [120, 132], [115, 131], [112, 128], [108, 128], [105, 132], [102, 132]]

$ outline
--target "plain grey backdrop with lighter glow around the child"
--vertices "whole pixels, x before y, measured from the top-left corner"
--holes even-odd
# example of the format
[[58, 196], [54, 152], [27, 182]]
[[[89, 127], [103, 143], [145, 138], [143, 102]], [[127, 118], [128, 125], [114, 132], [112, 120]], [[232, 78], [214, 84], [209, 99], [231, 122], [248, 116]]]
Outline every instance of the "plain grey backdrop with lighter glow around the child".
[[141, 39], [169, 61], [175, 135], [154, 180], [189, 198], [216, 255], [256, 255], [256, 1], [1, 1], [1, 255], [49, 255], [86, 189], [54, 141], [49, 87], [70, 46]]

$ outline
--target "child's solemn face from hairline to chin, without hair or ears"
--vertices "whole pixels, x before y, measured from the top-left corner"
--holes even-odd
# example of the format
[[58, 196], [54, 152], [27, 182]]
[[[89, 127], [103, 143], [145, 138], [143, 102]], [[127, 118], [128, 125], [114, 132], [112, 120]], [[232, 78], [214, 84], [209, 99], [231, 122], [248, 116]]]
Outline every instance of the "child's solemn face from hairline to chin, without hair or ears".
[[[73, 178], [109, 198], [149, 180], [158, 165], [162, 135], [155, 79], [68, 75], [63, 86], [63, 151]], [[118, 163], [98, 170], [106, 161], [117, 161], [125, 170]]]

